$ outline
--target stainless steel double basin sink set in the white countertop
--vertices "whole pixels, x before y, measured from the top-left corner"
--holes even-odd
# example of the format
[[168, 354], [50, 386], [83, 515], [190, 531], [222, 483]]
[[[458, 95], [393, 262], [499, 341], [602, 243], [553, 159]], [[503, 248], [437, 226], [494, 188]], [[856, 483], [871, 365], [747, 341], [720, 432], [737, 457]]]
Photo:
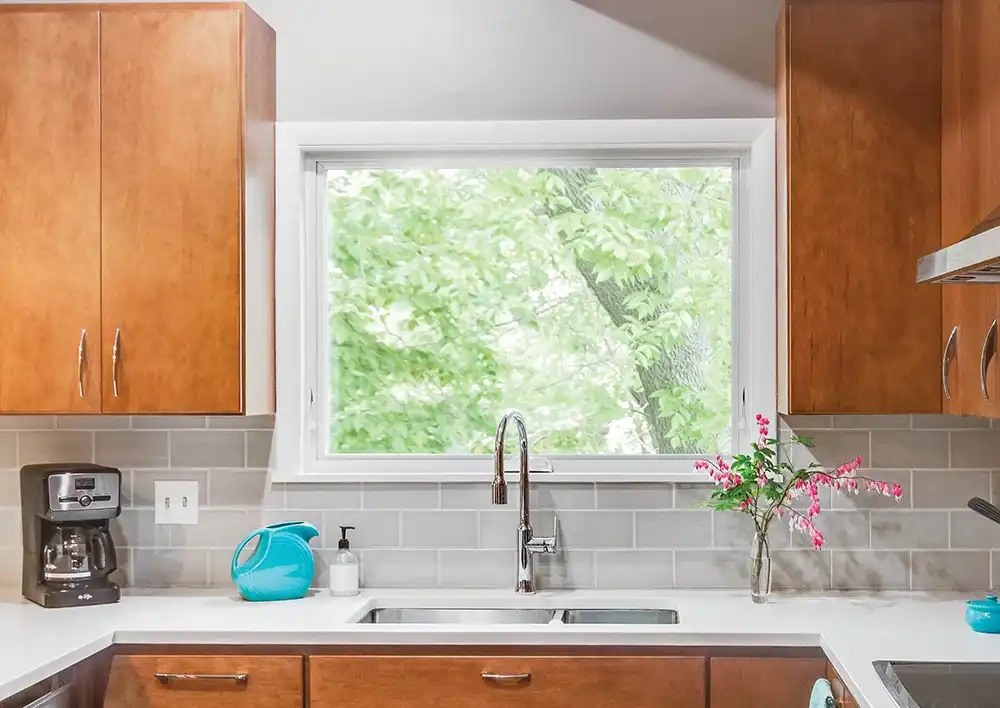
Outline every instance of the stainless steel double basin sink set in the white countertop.
[[369, 610], [359, 624], [677, 624], [676, 610], [649, 608], [534, 609], [534, 608], [399, 608]]

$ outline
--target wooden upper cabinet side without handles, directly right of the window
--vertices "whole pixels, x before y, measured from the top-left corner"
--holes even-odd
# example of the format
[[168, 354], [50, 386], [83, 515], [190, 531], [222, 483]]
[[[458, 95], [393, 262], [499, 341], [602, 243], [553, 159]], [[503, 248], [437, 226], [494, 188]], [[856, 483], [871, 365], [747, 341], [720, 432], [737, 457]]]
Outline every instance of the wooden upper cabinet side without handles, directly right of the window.
[[941, 5], [792, 3], [779, 27], [779, 410], [940, 412]]

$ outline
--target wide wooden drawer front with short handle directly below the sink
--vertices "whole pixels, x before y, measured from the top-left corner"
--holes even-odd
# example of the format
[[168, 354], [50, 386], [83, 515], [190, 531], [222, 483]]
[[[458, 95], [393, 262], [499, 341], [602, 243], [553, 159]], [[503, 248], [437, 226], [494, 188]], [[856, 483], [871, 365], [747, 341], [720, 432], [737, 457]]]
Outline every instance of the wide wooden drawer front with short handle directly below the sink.
[[313, 656], [308, 703], [311, 708], [704, 708], [705, 660]]

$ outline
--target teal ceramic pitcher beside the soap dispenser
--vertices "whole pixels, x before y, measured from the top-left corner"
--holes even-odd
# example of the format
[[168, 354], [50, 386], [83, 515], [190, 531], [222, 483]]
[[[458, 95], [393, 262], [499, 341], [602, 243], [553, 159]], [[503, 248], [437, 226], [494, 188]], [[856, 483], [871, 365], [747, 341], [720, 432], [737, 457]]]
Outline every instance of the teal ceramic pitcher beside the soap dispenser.
[[[233, 582], [243, 599], [295, 600], [305, 595], [314, 571], [309, 539], [318, 535], [310, 523], [288, 521], [257, 529], [243, 539], [233, 554], [232, 567]], [[255, 538], [257, 548], [240, 564], [240, 553]]]

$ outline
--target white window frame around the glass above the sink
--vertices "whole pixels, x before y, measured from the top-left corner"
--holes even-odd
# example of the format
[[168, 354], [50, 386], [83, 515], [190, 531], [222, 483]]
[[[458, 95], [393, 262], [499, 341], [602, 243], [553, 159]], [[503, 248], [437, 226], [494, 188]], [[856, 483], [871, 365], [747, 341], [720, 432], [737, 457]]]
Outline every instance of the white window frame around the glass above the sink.
[[[319, 168], [391, 156], [430, 166], [436, 156], [582, 154], [625, 163], [665, 158], [738, 160], [733, 240], [733, 449], [745, 449], [752, 418], [777, 410], [775, 122], [772, 119], [530, 121], [477, 123], [279, 123], [275, 253], [277, 416], [271, 463], [278, 482], [473, 482], [492, 474], [487, 455], [334, 455], [322, 458], [316, 388], [319, 353], [315, 240], [322, 217]], [[451, 157], [448, 157], [451, 155]], [[520, 160], [520, 164], [524, 161]], [[471, 163], [470, 163], [471, 164]], [[529, 439], [530, 439], [530, 421]], [[530, 442], [530, 440], [529, 440]], [[532, 470], [547, 482], [693, 482], [696, 455], [547, 455]], [[513, 461], [508, 462], [508, 468]]]

